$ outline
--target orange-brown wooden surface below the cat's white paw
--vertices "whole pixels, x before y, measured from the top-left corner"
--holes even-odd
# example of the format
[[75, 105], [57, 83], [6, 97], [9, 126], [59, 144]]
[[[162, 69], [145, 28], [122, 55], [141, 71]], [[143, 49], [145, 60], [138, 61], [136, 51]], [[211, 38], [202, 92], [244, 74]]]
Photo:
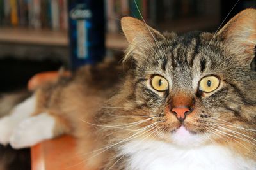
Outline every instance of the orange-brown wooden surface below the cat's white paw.
[[31, 148], [32, 170], [85, 170], [85, 167], [72, 136], [61, 136]]

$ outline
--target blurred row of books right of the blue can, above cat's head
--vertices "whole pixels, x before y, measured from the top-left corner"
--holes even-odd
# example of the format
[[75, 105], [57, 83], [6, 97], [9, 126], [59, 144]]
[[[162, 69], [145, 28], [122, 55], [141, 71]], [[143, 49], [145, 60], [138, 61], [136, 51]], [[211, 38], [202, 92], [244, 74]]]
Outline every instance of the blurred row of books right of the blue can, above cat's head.
[[[209, 3], [215, 2], [209, 0], [105, 0], [107, 28], [109, 32], [120, 31], [120, 18], [127, 15], [143, 19], [152, 26], [161, 23], [170, 24], [177, 19], [202, 18], [202, 16], [206, 18], [209, 17], [209, 13], [204, 9]], [[216, 9], [212, 10], [213, 16]], [[216, 10], [215, 13], [218, 11]]]

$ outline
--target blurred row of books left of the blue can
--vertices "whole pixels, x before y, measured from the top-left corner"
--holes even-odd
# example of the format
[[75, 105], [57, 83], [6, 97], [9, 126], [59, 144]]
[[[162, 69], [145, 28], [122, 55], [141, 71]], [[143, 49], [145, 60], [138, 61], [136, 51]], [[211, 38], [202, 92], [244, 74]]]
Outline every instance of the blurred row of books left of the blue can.
[[0, 27], [67, 30], [68, 0], [0, 0]]

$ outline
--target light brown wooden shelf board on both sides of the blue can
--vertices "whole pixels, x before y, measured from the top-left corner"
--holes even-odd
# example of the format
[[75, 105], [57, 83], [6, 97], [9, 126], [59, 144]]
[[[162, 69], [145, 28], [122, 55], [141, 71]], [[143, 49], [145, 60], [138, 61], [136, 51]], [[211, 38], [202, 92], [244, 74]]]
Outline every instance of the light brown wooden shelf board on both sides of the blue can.
[[[2, 27], [0, 28], [0, 42], [68, 46], [68, 33], [67, 31]], [[124, 50], [127, 41], [122, 34], [107, 34], [106, 46], [114, 50]]]

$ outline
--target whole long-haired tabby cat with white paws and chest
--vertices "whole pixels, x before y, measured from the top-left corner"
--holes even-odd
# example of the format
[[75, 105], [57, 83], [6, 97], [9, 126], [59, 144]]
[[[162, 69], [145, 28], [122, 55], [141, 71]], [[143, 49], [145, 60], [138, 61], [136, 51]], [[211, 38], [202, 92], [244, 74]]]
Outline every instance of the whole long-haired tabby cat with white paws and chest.
[[245, 10], [216, 35], [183, 36], [123, 18], [125, 76], [103, 64], [42, 87], [17, 106], [36, 103], [6, 143], [72, 134], [96, 169], [256, 169], [255, 17]]

